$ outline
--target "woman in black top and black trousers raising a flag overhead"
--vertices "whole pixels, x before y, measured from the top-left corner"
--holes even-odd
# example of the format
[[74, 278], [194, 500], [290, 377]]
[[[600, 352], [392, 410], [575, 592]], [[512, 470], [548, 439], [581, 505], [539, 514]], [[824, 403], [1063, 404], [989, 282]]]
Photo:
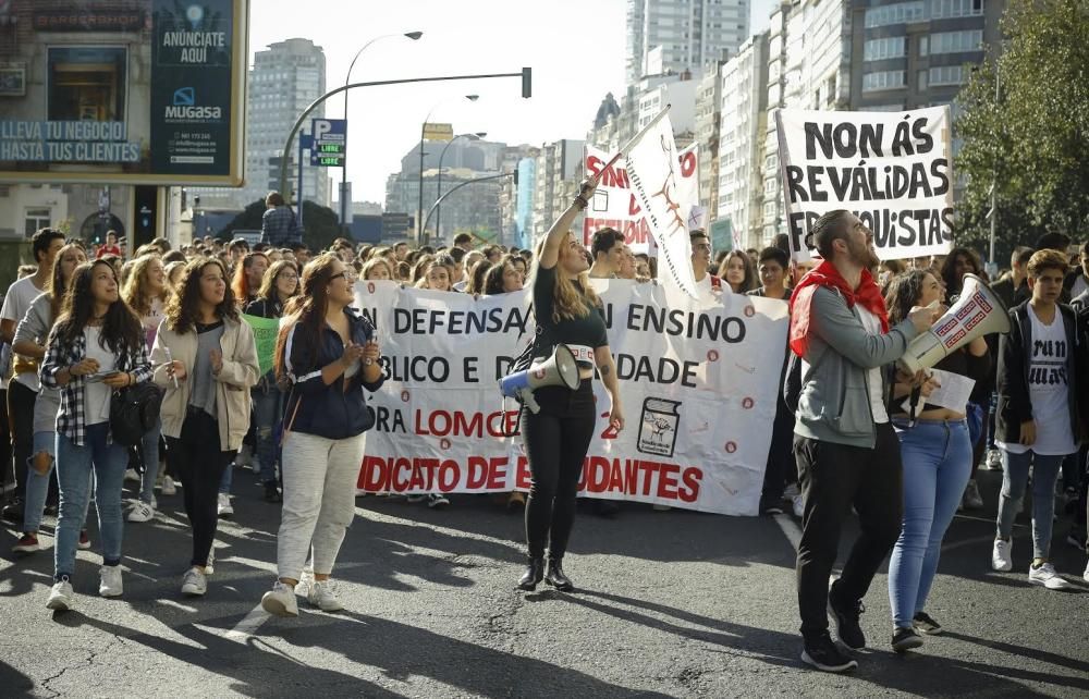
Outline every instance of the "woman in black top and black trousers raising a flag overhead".
[[571, 234], [571, 224], [587, 207], [597, 185], [597, 179], [580, 185], [571, 206], [537, 246], [530, 283], [537, 320], [534, 360], [547, 359], [556, 345], [566, 345], [578, 364], [579, 384], [575, 390], [562, 385], [538, 388], [534, 397], [540, 409], [525, 410], [522, 418], [522, 439], [533, 475], [526, 503], [529, 565], [518, 580], [523, 590], [536, 589], [541, 579], [558, 590], [574, 589], [562, 563], [575, 520], [583, 459], [595, 433], [595, 366], [612, 401], [609, 424], [616, 431], [624, 428], [616, 365], [609, 351], [601, 299], [590, 286], [584, 246]]

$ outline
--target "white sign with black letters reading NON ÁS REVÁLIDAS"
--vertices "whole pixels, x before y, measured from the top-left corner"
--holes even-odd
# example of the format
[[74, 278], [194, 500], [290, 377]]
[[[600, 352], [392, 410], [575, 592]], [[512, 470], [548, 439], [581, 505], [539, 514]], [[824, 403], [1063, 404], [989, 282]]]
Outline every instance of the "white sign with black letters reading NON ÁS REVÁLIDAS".
[[775, 112], [795, 259], [821, 213], [854, 211], [881, 259], [949, 253], [953, 170], [949, 107], [910, 112]]

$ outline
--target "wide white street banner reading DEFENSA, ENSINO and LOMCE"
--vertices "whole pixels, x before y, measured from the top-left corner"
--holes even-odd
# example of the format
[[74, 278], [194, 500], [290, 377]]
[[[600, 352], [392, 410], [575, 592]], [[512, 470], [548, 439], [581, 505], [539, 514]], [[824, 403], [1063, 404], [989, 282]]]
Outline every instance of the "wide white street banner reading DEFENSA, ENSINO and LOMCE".
[[[786, 347], [786, 304], [723, 294], [664, 304], [657, 284], [594, 280], [605, 304], [627, 427], [609, 428], [595, 381], [595, 439], [580, 494], [757, 514]], [[517, 405], [497, 382], [534, 336], [528, 291], [467, 294], [359, 282], [387, 381], [371, 396], [359, 487], [370, 491], [528, 490]], [[774, 360], [772, 358], [775, 357]]]

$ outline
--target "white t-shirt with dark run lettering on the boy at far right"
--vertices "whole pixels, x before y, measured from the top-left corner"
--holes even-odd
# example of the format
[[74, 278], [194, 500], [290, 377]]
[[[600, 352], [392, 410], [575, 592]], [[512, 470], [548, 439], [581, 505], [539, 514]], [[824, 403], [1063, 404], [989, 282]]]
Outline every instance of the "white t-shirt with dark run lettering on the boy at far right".
[[1032, 323], [1032, 346], [1026, 350], [1028, 367], [1028, 396], [1032, 401], [1032, 420], [1036, 421], [1036, 442], [1003, 444], [999, 446], [1012, 454], [1032, 450], [1044, 456], [1065, 456], [1078, 451], [1070, 432], [1069, 377], [1066, 367], [1073, 347], [1066, 346], [1066, 324], [1063, 315], [1055, 310], [1055, 319], [1045, 326], [1028, 306]]

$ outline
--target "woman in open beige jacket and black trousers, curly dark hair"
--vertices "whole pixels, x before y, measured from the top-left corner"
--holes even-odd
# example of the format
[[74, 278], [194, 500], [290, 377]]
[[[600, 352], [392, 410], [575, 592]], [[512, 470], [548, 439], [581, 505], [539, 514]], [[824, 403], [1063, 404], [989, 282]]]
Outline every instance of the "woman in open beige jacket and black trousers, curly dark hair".
[[203, 596], [212, 573], [220, 480], [249, 429], [257, 345], [215, 258], [186, 263], [151, 348], [167, 456], [182, 479], [193, 555], [182, 594]]

